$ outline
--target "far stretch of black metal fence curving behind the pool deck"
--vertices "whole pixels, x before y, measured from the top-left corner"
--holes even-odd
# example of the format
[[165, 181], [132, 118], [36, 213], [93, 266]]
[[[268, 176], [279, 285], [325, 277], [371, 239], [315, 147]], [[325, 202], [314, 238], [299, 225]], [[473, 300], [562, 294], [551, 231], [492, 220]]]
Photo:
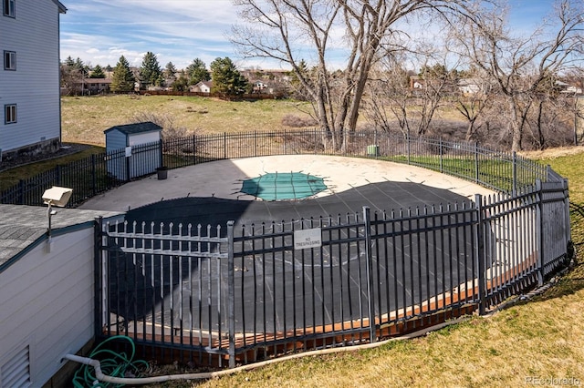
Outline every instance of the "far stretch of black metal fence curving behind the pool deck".
[[131, 155], [125, 149], [92, 155], [21, 179], [14, 187], [0, 192], [0, 203], [42, 205], [45, 189], [65, 186], [73, 189], [69, 206], [75, 207], [125, 181], [152, 174], [154, 163], [180, 168], [224, 158], [268, 155], [381, 158], [431, 168], [504, 192], [515, 192], [532, 185], [536, 179], [545, 182], [555, 177], [549, 168], [516, 153], [482, 148], [476, 143], [404, 138], [380, 131], [349, 132], [343, 137], [340, 146], [334, 146], [331, 136], [318, 129], [172, 138], [134, 146]]

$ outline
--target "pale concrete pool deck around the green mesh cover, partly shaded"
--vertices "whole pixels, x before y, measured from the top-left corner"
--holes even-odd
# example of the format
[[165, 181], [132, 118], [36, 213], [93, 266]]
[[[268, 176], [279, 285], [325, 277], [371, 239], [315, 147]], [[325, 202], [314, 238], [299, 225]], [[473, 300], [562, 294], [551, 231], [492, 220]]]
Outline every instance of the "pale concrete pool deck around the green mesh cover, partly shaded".
[[[100, 194], [79, 206], [79, 209], [128, 211], [167, 199], [186, 197], [214, 197], [219, 199], [255, 200], [240, 192], [245, 179], [253, 179], [268, 172], [304, 172], [324, 179], [328, 189], [312, 198], [323, 198], [370, 183], [404, 182], [428, 188], [445, 189], [466, 199], [474, 194], [489, 195], [485, 189], [464, 179], [458, 179], [425, 168], [413, 167], [369, 158], [345, 158], [315, 155], [286, 155], [257, 158], [225, 159], [175, 168], [168, 171], [168, 179], [159, 180], [156, 174], [134, 180]], [[412, 201], [416, 201], [413, 192]], [[449, 199], [444, 198], [443, 203]], [[420, 196], [419, 203], [424, 203]]]

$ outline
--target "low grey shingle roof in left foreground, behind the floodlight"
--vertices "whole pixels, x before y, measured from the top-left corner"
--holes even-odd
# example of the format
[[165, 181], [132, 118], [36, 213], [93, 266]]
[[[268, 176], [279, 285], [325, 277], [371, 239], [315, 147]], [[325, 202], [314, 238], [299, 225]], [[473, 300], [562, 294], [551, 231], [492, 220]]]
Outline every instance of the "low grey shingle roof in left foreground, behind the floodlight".
[[[41, 206], [0, 205], [0, 271], [6, 261], [47, 237], [47, 208]], [[99, 210], [57, 209], [51, 218], [51, 230], [63, 230], [95, 220], [123, 213]], [[7, 264], [6, 264], [7, 265]]]

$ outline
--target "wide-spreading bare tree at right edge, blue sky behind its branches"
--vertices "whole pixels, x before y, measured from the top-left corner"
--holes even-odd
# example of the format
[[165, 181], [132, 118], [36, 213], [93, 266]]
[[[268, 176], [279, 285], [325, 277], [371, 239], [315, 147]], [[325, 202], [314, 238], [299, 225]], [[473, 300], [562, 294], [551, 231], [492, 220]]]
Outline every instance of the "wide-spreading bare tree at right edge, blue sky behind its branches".
[[581, 0], [559, 0], [555, 15], [527, 37], [512, 36], [500, 10], [477, 16], [478, 23], [461, 20], [453, 25], [461, 54], [492, 77], [506, 98], [502, 113], [508, 118], [513, 150], [523, 148], [529, 114], [541, 95], [553, 90], [562, 71], [581, 60], [583, 8]]

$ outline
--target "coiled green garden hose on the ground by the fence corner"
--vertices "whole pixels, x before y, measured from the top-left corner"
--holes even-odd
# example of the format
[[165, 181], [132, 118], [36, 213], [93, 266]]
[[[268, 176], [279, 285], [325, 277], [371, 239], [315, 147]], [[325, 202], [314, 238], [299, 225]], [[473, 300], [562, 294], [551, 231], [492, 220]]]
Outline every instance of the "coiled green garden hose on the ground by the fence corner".
[[[104, 349], [104, 346], [110, 341], [125, 341], [130, 343], [131, 352], [126, 354], [124, 352], [113, 352], [109, 349]], [[108, 338], [104, 342], [99, 343], [98, 346], [89, 354], [89, 358], [99, 360], [101, 370], [104, 374], [112, 377], [135, 377], [138, 376], [140, 370], [150, 367], [148, 362], [143, 360], [134, 361], [136, 354], [136, 346], [130, 337], [126, 335], [116, 335]], [[123, 383], [107, 383], [99, 381], [95, 375], [95, 369], [90, 365], [83, 365], [75, 373], [73, 377], [73, 386], [75, 388], [86, 387], [121, 387]]]

